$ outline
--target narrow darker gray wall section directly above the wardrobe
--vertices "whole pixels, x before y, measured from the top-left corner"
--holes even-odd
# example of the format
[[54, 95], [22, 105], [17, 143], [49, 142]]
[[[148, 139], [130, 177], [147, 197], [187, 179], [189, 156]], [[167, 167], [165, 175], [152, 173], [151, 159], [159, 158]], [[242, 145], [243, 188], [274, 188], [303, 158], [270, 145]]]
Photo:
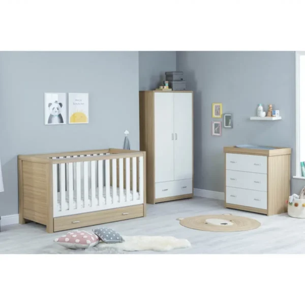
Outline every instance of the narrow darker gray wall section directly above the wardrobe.
[[154, 90], [162, 85], [167, 71], [176, 71], [175, 51], [139, 52], [140, 90]]

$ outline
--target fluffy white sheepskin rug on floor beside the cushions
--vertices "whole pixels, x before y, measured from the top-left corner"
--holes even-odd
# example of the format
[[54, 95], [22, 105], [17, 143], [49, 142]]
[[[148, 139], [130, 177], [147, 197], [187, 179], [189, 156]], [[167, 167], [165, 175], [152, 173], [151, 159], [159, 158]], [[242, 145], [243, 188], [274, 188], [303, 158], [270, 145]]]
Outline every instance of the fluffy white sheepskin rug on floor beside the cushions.
[[122, 236], [124, 242], [100, 242], [98, 248], [116, 248], [124, 251], [170, 251], [174, 249], [189, 248], [191, 243], [187, 239], [178, 239], [173, 236]]

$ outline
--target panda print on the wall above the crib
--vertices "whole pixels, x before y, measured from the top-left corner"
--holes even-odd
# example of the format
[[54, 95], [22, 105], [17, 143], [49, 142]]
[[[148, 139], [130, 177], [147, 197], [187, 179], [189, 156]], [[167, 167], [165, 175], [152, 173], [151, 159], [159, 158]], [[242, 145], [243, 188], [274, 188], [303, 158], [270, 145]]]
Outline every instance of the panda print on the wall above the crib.
[[45, 125], [67, 124], [65, 93], [45, 93]]

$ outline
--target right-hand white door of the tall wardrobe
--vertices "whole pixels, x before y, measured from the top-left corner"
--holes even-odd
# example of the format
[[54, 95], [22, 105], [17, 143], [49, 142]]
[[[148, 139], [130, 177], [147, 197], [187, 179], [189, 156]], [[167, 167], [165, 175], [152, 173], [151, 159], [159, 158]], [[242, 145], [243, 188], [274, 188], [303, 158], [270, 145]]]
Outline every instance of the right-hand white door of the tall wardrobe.
[[193, 177], [192, 93], [174, 93], [174, 178]]

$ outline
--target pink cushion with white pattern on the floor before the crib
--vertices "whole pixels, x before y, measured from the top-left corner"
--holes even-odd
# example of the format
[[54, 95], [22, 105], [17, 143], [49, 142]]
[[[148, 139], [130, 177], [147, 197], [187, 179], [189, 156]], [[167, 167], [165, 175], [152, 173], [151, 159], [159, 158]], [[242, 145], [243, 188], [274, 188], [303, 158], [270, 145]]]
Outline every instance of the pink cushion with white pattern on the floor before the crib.
[[87, 249], [96, 246], [99, 243], [99, 237], [95, 233], [74, 230], [55, 238], [54, 241], [68, 249]]

